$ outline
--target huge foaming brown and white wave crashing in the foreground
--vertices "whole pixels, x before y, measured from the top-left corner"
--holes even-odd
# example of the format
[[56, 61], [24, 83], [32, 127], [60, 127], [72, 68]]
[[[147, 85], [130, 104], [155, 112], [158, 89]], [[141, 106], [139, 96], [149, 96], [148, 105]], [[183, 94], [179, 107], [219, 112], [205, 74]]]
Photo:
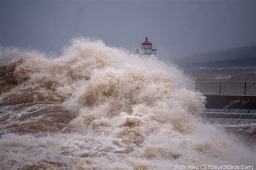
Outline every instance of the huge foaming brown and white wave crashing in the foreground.
[[1, 168], [255, 165], [255, 150], [198, 116], [193, 82], [154, 57], [83, 39], [56, 59], [0, 57]]

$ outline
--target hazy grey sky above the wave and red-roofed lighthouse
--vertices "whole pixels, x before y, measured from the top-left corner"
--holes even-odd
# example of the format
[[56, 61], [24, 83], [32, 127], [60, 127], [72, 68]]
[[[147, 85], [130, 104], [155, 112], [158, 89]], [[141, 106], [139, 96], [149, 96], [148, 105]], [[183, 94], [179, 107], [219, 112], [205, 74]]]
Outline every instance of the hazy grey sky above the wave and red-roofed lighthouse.
[[0, 44], [59, 52], [70, 39], [177, 56], [256, 44], [256, 1], [0, 0]]

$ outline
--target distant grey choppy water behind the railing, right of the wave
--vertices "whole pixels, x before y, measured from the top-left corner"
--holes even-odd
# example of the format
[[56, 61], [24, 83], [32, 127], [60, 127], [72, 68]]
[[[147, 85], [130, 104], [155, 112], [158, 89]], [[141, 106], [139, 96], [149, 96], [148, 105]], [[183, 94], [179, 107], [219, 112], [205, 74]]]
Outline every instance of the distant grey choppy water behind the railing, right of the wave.
[[256, 95], [255, 68], [200, 68], [185, 70], [185, 74], [205, 95], [218, 95], [220, 83], [221, 95]]

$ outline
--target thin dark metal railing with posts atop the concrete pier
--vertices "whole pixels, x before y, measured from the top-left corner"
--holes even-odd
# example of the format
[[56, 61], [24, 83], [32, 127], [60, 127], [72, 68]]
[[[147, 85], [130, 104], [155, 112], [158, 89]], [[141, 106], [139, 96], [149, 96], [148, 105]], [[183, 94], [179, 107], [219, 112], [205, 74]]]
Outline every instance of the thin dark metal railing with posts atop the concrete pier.
[[256, 95], [256, 83], [196, 83], [196, 90], [206, 95]]

